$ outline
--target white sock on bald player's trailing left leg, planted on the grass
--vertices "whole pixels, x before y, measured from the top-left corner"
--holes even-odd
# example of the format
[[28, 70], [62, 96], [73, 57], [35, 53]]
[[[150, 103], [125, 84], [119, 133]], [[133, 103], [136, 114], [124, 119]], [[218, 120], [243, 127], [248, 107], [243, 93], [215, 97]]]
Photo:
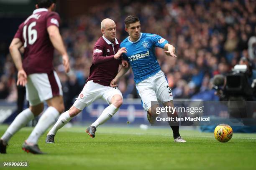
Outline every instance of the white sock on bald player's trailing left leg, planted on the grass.
[[66, 125], [73, 117], [69, 116], [69, 110], [62, 113], [55, 125], [51, 128], [48, 135], [55, 135], [57, 131], [62, 128], [64, 125]]

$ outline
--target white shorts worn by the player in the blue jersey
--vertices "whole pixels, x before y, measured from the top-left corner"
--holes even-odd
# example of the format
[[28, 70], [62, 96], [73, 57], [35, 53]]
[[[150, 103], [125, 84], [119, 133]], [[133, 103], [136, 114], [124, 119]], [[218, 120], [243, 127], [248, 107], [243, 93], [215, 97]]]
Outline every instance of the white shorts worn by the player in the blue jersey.
[[137, 83], [136, 88], [141, 96], [143, 108], [146, 112], [151, 107], [151, 101], [164, 103], [173, 100], [172, 90], [168, 86], [164, 72], [161, 70], [155, 75]]

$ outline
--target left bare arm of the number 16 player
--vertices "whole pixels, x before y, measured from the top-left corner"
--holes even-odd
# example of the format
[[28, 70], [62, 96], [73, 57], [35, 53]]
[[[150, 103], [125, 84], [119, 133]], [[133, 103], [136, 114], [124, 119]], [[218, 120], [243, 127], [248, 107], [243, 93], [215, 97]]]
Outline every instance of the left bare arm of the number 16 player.
[[13, 58], [15, 67], [18, 70], [17, 85], [25, 86], [27, 83], [27, 74], [23, 70], [22, 59], [21, 59], [20, 50], [19, 50], [20, 47], [22, 47], [22, 46], [23, 46], [23, 43], [20, 41], [19, 38], [13, 38], [13, 40], [10, 44], [9, 50], [10, 50], [10, 54]]

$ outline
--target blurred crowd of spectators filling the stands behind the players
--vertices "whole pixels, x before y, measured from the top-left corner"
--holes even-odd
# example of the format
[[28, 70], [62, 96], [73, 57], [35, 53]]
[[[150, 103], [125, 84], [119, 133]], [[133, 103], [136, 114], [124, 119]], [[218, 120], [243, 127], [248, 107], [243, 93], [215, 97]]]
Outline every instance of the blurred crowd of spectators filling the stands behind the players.
[[[61, 57], [55, 57], [54, 65], [62, 82], [66, 107], [72, 105], [89, 75], [93, 46], [102, 35], [101, 20], [113, 19], [117, 37], [122, 41], [128, 36], [124, 18], [131, 14], [140, 18], [141, 32], [161, 35], [176, 47], [177, 58], [156, 48], [174, 98], [218, 100], [212, 90], [214, 75], [230, 72], [243, 56], [255, 67], [255, 3], [254, 0], [122, 0], [95, 5], [76, 18], [61, 18], [61, 35], [72, 71], [65, 74]], [[16, 71], [10, 55], [1, 58], [0, 67], [0, 99], [15, 101]], [[131, 71], [120, 80], [118, 88], [124, 98], [138, 97]]]

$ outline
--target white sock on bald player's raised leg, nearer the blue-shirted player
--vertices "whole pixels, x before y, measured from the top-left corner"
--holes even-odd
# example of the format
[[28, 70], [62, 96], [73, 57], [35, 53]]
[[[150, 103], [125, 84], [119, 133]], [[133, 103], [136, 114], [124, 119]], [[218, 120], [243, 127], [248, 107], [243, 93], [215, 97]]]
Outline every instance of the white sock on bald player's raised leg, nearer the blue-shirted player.
[[108, 107], [106, 107], [103, 110], [103, 112], [101, 113], [100, 117], [98, 117], [97, 120], [95, 122], [93, 122], [91, 126], [95, 126], [97, 128], [99, 125], [102, 125], [107, 120], [109, 120], [110, 117], [115, 115], [115, 113], [118, 111], [118, 109], [119, 108], [115, 107], [113, 104], [109, 105]]

